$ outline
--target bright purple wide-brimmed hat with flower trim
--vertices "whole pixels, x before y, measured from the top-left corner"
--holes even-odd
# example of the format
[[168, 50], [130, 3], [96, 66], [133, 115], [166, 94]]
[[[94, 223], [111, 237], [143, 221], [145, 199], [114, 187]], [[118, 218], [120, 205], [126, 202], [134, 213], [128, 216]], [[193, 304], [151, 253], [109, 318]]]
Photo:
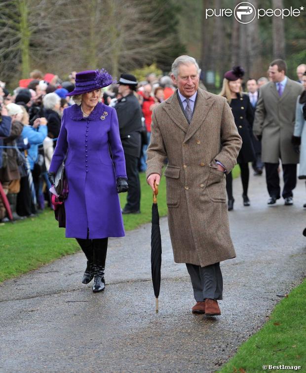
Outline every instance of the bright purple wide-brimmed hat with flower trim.
[[87, 70], [76, 74], [76, 86], [66, 96], [76, 96], [107, 87], [113, 83], [113, 77], [105, 69]]

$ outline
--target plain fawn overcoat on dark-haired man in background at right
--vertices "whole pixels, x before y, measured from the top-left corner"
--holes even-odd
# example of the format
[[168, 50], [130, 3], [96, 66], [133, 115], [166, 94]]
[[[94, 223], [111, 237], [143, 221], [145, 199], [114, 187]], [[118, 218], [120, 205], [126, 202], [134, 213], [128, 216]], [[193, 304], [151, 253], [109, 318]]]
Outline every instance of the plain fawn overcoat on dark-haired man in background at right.
[[288, 78], [281, 97], [276, 84], [269, 82], [260, 88], [257, 101], [253, 132], [262, 136], [262, 161], [283, 164], [299, 163], [299, 155], [291, 143], [295, 124], [297, 97], [303, 86]]

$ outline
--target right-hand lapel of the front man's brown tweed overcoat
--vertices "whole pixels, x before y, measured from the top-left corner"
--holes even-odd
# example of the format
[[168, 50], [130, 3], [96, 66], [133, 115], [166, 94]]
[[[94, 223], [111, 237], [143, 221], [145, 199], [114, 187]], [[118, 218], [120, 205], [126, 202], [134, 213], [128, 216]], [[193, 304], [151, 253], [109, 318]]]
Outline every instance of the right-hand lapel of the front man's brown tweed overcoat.
[[186, 143], [200, 128], [214, 102], [214, 98], [208, 92], [201, 89], [197, 90], [195, 109], [186, 133], [186, 137], [184, 139], [184, 143]]

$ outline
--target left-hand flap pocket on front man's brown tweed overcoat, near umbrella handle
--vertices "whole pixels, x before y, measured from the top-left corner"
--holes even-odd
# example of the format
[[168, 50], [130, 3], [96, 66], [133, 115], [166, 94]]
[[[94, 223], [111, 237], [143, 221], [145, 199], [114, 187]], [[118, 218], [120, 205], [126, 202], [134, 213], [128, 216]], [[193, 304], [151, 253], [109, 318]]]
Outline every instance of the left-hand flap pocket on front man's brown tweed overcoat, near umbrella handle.
[[167, 206], [179, 207], [181, 201], [181, 182], [179, 180], [181, 168], [177, 166], [167, 166], [165, 169], [167, 186]]

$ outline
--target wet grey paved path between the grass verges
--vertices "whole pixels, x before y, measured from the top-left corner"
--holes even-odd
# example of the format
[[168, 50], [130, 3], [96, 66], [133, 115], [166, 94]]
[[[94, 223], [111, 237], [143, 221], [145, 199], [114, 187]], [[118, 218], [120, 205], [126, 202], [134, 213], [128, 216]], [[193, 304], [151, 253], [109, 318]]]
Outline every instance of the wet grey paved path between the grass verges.
[[[264, 176], [252, 205], [234, 181], [230, 228], [237, 258], [223, 262], [222, 316], [191, 314], [184, 264], [173, 262], [165, 218], [160, 311], [150, 269], [150, 224], [112, 239], [104, 293], [82, 285], [82, 253], [0, 285], [0, 372], [214, 372], [305, 276], [305, 183], [295, 205], [267, 206]], [[259, 367], [260, 370], [261, 367]]]

